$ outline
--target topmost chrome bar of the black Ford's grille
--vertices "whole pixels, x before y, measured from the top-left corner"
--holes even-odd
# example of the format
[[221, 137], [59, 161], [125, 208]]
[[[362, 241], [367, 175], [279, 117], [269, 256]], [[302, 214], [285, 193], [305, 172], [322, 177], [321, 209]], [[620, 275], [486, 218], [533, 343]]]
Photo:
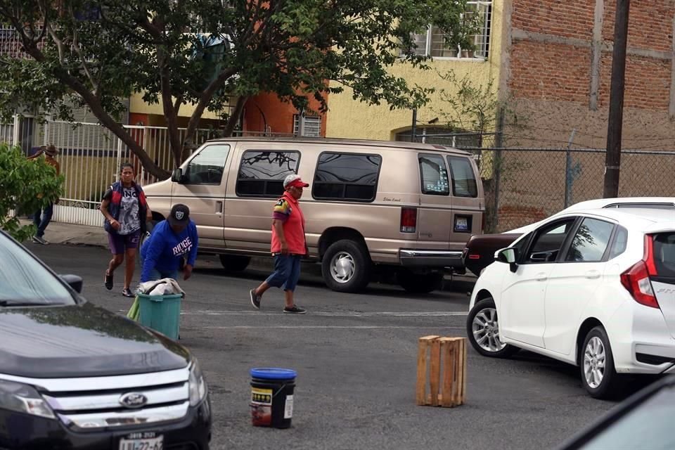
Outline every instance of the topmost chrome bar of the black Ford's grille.
[[140, 389], [145, 386], [171, 385], [187, 381], [190, 367], [173, 371], [136, 373], [134, 375], [111, 375], [87, 378], [27, 378], [0, 373], [0, 379], [15, 381], [41, 388], [49, 392], [101, 391], [109, 389]]

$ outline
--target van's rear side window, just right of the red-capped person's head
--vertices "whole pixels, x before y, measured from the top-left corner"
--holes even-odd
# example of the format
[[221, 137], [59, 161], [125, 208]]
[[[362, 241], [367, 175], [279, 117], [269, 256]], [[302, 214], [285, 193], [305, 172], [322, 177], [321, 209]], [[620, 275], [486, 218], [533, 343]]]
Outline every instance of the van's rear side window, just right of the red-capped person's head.
[[321, 153], [311, 195], [319, 200], [372, 202], [382, 157], [354, 153]]

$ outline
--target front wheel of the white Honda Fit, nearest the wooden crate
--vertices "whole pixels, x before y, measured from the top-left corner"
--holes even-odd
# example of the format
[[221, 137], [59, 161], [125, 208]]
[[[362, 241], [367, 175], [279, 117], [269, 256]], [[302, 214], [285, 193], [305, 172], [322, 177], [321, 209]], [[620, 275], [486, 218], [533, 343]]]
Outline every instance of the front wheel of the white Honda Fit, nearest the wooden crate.
[[508, 358], [518, 347], [501, 342], [497, 309], [492, 297], [477, 302], [466, 318], [466, 334], [476, 352], [493, 358]]

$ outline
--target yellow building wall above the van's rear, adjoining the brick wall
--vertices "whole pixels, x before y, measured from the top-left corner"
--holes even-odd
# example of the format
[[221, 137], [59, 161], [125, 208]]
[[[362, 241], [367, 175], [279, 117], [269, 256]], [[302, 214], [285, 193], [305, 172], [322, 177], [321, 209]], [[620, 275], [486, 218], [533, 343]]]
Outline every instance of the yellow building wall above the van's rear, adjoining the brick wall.
[[[439, 76], [440, 73], [453, 70], [457, 79], [470, 75], [476, 84], [485, 85], [489, 79], [494, 80], [494, 89], [499, 86], [502, 53], [503, 29], [503, 0], [494, 0], [492, 3], [492, 30], [490, 32], [490, 47], [487, 60], [473, 60], [469, 58], [435, 58], [428, 63], [430, 69], [421, 70], [409, 64], [399, 63], [390, 68], [390, 73], [397, 77], [404, 77], [409, 86], [433, 87], [430, 101], [417, 112], [418, 127], [423, 127], [430, 120], [439, 117], [437, 111], [444, 105], [439, 91], [452, 91], [452, 85]], [[333, 86], [338, 84], [332, 83]], [[389, 105], [368, 105], [354, 100], [352, 90], [345, 88], [341, 94], [330, 94], [328, 97], [328, 115], [326, 118], [326, 137], [352, 139], [393, 140], [398, 131], [411, 128], [411, 110], [390, 110]], [[442, 118], [435, 125], [442, 126]]]

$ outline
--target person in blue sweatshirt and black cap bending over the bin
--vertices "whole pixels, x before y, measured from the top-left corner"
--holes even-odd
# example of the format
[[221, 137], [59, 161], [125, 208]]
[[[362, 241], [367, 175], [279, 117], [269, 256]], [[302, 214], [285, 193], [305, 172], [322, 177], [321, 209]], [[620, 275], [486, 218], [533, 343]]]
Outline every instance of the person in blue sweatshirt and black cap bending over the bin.
[[141, 247], [141, 283], [162, 278], [176, 280], [184, 255], [187, 262], [183, 279], [187, 280], [195, 266], [198, 245], [197, 226], [190, 219], [190, 208], [177, 203], [171, 208], [169, 217], [155, 225]]

